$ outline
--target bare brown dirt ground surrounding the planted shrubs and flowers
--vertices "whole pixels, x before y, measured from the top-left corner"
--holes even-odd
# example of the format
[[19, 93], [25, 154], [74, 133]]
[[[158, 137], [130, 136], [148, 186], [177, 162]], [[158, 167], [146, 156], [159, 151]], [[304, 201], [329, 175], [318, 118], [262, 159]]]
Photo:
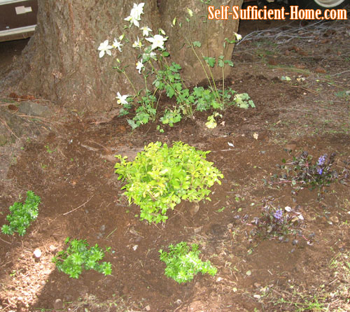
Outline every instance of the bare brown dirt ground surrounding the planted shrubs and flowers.
[[[294, 196], [290, 187], [262, 180], [303, 150], [315, 158], [337, 153], [338, 171], [349, 159], [350, 24], [246, 22], [240, 33], [247, 36], [227, 82], [247, 92], [255, 109], [228, 109], [214, 130], [199, 114], [165, 134], [154, 125], [132, 133], [125, 120], [107, 114], [57, 111], [41, 136], [13, 152], [0, 182], [0, 224], [27, 190], [41, 204], [24, 237], [0, 234], [0, 311], [59, 311], [57, 299], [60, 311], [350, 311], [350, 274], [330, 265], [349, 255], [349, 185], [333, 183], [318, 201], [317, 190]], [[133, 157], [151, 141], [211, 150], [209, 160], [225, 176], [212, 187], [211, 202], [200, 203], [197, 213], [181, 203], [165, 225], [137, 218], [138, 207], [122, 196], [113, 155]], [[267, 199], [276, 207], [299, 205], [302, 233], [315, 235], [311, 246], [301, 237], [293, 246], [249, 235]], [[71, 279], [57, 271], [51, 259], [67, 236], [111, 246], [106, 260], [113, 274], [85, 271]], [[199, 243], [218, 274], [199, 274], [185, 285], [167, 278], [158, 250], [180, 241]]]

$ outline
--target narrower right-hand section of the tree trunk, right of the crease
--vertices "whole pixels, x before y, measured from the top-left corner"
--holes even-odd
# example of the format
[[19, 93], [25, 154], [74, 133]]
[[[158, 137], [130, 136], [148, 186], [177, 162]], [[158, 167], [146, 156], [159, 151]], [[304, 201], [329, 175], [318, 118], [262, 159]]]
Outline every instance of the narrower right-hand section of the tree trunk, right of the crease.
[[[205, 2], [205, 1], [204, 1]], [[174, 62], [183, 67], [183, 78], [190, 81], [190, 84], [200, 82], [205, 79], [204, 70], [193, 51], [188, 48], [186, 40], [200, 41], [202, 47], [196, 48], [197, 55], [202, 58], [218, 57], [224, 55], [225, 59], [231, 59], [234, 45], [227, 45], [224, 50], [225, 38], [235, 38], [239, 20], [208, 20], [208, 6], [216, 9], [221, 6], [239, 6], [243, 0], [212, 0], [210, 4], [204, 4], [200, 0], [177, 0], [162, 1], [160, 3], [160, 15], [162, 17], [162, 27], [165, 29], [169, 42], [167, 48], [172, 55]], [[188, 8], [193, 11], [193, 17], [188, 15]], [[172, 20], [176, 17], [176, 24], [182, 22], [182, 27], [172, 27]], [[186, 21], [190, 17], [190, 22]], [[229, 16], [230, 17], [230, 16]], [[212, 70], [214, 78], [222, 77], [221, 68], [215, 67]], [[225, 74], [230, 72], [230, 66], [225, 67]]]

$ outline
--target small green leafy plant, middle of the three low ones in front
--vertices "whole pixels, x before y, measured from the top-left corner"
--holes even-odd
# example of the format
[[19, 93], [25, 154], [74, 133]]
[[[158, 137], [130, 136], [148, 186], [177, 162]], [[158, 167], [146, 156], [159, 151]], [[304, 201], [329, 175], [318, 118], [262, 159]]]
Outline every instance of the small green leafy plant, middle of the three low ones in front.
[[[83, 269], [95, 270], [105, 276], [111, 275], [111, 263], [99, 263], [104, 258], [104, 251], [97, 244], [89, 248], [89, 244], [85, 240], [70, 240], [69, 237], [66, 238], [64, 243], [69, 244], [68, 248], [59, 251], [52, 258], [52, 262], [56, 264], [59, 271], [68, 274], [71, 278], [78, 278]], [[106, 248], [106, 251], [110, 249]]]

